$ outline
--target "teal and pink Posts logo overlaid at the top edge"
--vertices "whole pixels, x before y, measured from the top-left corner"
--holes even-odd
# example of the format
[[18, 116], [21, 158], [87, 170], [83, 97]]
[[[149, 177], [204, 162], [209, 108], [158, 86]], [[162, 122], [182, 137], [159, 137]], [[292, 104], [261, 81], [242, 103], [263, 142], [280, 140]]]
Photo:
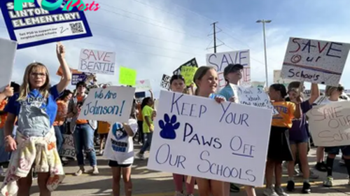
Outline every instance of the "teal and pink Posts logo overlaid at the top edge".
[[85, 3], [81, 0], [14, 0], [14, 10], [20, 11], [23, 9], [23, 3], [34, 3], [36, 1], [41, 8], [44, 10], [57, 10], [60, 7], [64, 11], [71, 11], [72, 8], [77, 7], [78, 10], [90, 10], [90, 11], [97, 11], [99, 10], [100, 6], [99, 3], [95, 3], [92, 1], [92, 3]]

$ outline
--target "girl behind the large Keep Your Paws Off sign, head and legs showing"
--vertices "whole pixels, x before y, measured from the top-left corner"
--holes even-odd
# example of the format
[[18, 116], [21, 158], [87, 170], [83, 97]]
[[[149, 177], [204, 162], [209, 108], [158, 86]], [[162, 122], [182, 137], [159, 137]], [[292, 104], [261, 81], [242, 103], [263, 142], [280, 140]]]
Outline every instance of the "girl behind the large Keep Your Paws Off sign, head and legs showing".
[[[216, 102], [225, 102], [225, 97], [221, 95], [214, 94], [216, 88], [218, 87], [218, 73], [211, 66], [201, 66], [197, 69], [195, 76], [193, 77], [197, 89], [195, 90], [195, 95], [200, 97], [209, 97], [210, 99], [215, 99]], [[230, 195], [230, 193], [225, 193], [224, 182], [196, 178], [200, 196], [223, 196]]]

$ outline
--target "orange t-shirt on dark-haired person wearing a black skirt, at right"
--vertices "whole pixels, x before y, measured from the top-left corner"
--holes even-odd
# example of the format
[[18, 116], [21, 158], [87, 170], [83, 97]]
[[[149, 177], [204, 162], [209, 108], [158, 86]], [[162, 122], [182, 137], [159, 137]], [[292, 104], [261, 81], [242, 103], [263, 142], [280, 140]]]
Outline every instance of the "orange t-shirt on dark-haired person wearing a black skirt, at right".
[[291, 128], [295, 112], [295, 104], [292, 102], [273, 102], [274, 109], [279, 114], [272, 117], [272, 126]]

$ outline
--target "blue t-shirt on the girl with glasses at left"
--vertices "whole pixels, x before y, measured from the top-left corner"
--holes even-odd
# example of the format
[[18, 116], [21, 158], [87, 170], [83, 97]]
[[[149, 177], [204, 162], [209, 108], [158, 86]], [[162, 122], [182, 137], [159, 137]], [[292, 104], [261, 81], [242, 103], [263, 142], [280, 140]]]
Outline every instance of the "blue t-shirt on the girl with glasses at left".
[[[8, 113], [12, 113], [15, 116], [18, 116], [20, 113], [20, 106], [21, 104], [35, 104], [35, 105], [41, 105], [42, 109], [45, 109], [46, 113], [50, 117], [50, 126], [52, 126], [53, 122], [55, 121], [56, 114], [57, 114], [57, 104], [56, 99], [59, 97], [59, 92], [57, 90], [57, 85], [54, 85], [50, 87], [48, 99], [43, 99], [43, 96], [38, 90], [31, 90], [29, 92], [27, 99], [25, 99], [24, 102], [20, 101], [18, 102], [18, 97], [20, 96], [19, 93], [13, 94], [13, 96], [8, 100], [8, 104], [5, 106], [5, 109], [3, 111], [6, 111]], [[17, 125], [17, 123], [16, 123]]]

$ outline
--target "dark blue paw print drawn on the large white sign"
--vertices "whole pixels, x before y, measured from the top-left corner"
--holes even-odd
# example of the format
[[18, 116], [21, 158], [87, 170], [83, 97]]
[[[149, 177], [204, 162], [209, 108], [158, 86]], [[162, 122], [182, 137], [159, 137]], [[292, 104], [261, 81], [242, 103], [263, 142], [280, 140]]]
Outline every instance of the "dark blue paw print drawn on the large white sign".
[[164, 120], [159, 120], [160, 137], [162, 139], [175, 139], [176, 132], [175, 130], [179, 129], [180, 123], [176, 123], [176, 116], [173, 115], [172, 119], [169, 118], [169, 115], [165, 113]]

